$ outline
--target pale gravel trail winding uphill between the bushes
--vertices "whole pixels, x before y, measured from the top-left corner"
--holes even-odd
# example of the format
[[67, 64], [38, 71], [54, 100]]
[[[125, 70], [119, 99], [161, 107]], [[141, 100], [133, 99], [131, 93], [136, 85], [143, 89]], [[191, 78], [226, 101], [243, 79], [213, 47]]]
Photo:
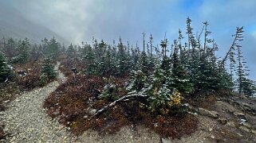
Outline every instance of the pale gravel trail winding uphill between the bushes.
[[[56, 69], [60, 63], [57, 63]], [[52, 120], [42, 105], [47, 96], [55, 91], [65, 76], [60, 72], [58, 81], [45, 87], [25, 92], [10, 102], [10, 108], [0, 112], [0, 118], [6, 123], [5, 131], [10, 133], [6, 141], [0, 142], [74, 142], [76, 137], [65, 126]]]

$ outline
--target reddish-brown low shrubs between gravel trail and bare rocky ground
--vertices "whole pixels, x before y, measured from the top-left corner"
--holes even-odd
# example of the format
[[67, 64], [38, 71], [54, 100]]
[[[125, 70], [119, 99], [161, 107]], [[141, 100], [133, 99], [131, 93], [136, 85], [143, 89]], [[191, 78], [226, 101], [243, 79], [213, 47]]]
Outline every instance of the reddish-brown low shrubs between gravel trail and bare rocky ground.
[[[127, 95], [125, 82], [127, 79], [112, 78], [112, 85], [105, 87], [109, 79], [100, 76], [77, 75], [69, 76], [44, 102], [48, 114], [65, 126], [69, 126], [73, 133], [79, 135], [87, 129], [94, 129], [101, 135], [116, 133], [124, 126], [148, 126], [163, 137], [179, 138], [183, 134], [190, 134], [197, 129], [198, 121], [190, 115], [173, 116], [152, 114], [150, 110], [140, 108], [136, 101], [120, 102], [113, 109], [105, 111], [97, 117], [92, 117], [96, 110], [112, 102], [112, 97], [100, 99], [104, 92], [115, 93], [117, 98]], [[114, 90], [112, 89], [114, 88]], [[118, 90], [116, 90], [118, 89]], [[113, 90], [113, 91], [112, 91]], [[179, 97], [171, 96], [173, 104], [179, 105]]]

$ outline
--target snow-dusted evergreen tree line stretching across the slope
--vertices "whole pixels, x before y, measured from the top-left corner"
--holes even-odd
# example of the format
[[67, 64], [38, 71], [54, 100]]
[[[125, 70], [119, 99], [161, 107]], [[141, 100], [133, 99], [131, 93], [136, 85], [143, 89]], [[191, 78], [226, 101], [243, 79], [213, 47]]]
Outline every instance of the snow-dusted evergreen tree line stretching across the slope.
[[82, 42], [81, 45], [70, 44], [67, 48], [54, 37], [45, 38], [41, 44], [31, 44], [28, 39], [2, 38], [0, 76], [3, 81], [6, 71], [8, 73], [6, 62], [22, 64], [41, 58], [54, 60], [65, 55], [70, 60], [81, 60], [85, 68], [82, 74], [85, 75], [129, 76], [128, 91], [131, 92], [169, 94], [169, 91], [179, 91], [192, 94], [237, 91], [241, 95], [254, 95], [255, 83], [247, 78], [248, 67], [239, 44], [243, 40], [243, 28], [236, 29], [229, 51], [219, 59], [215, 54], [219, 47], [210, 38], [208, 22], [203, 22], [199, 34], [195, 34], [189, 17], [186, 24], [185, 33], [179, 29], [174, 41], [164, 38], [160, 45], [154, 45], [152, 35], [148, 42], [143, 37], [143, 48], [124, 43], [121, 38], [113, 44], [93, 38], [92, 44]]

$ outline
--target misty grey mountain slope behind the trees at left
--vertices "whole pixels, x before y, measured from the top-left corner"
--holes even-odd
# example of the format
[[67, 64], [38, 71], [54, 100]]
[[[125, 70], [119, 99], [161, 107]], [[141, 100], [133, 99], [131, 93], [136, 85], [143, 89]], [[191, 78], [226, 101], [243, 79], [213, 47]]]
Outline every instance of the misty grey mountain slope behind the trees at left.
[[[12, 10], [6, 10], [12, 9]], [[6, 13], [9, 11], [9, 13]], [[63, 44], [69, 44], [65, 38], [57, 35], [44, 26], [37, 25], [26, 19], [22, 14], [11, 7], [0, 6], [0, 37], [14, 37], [18, 39], [29, 38], [30, 41], [39, 43], [46, 38], [55, 37]]]

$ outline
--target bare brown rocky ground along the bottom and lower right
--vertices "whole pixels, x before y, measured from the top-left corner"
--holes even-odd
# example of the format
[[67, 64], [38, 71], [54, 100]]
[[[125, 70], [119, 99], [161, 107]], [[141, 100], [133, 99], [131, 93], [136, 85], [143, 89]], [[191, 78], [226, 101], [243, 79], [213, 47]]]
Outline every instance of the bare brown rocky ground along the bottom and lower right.
[[222, 98], [207, 107], [195, 107], [199, 118], [199, 129], [190, 136], [180, 139], [163, 138], [144, 126], [124, 127], [120, 132], [106, 137], [93, 131], [86, 131], [78, 142], [255, 142], [256, 116], [255, 98]]

